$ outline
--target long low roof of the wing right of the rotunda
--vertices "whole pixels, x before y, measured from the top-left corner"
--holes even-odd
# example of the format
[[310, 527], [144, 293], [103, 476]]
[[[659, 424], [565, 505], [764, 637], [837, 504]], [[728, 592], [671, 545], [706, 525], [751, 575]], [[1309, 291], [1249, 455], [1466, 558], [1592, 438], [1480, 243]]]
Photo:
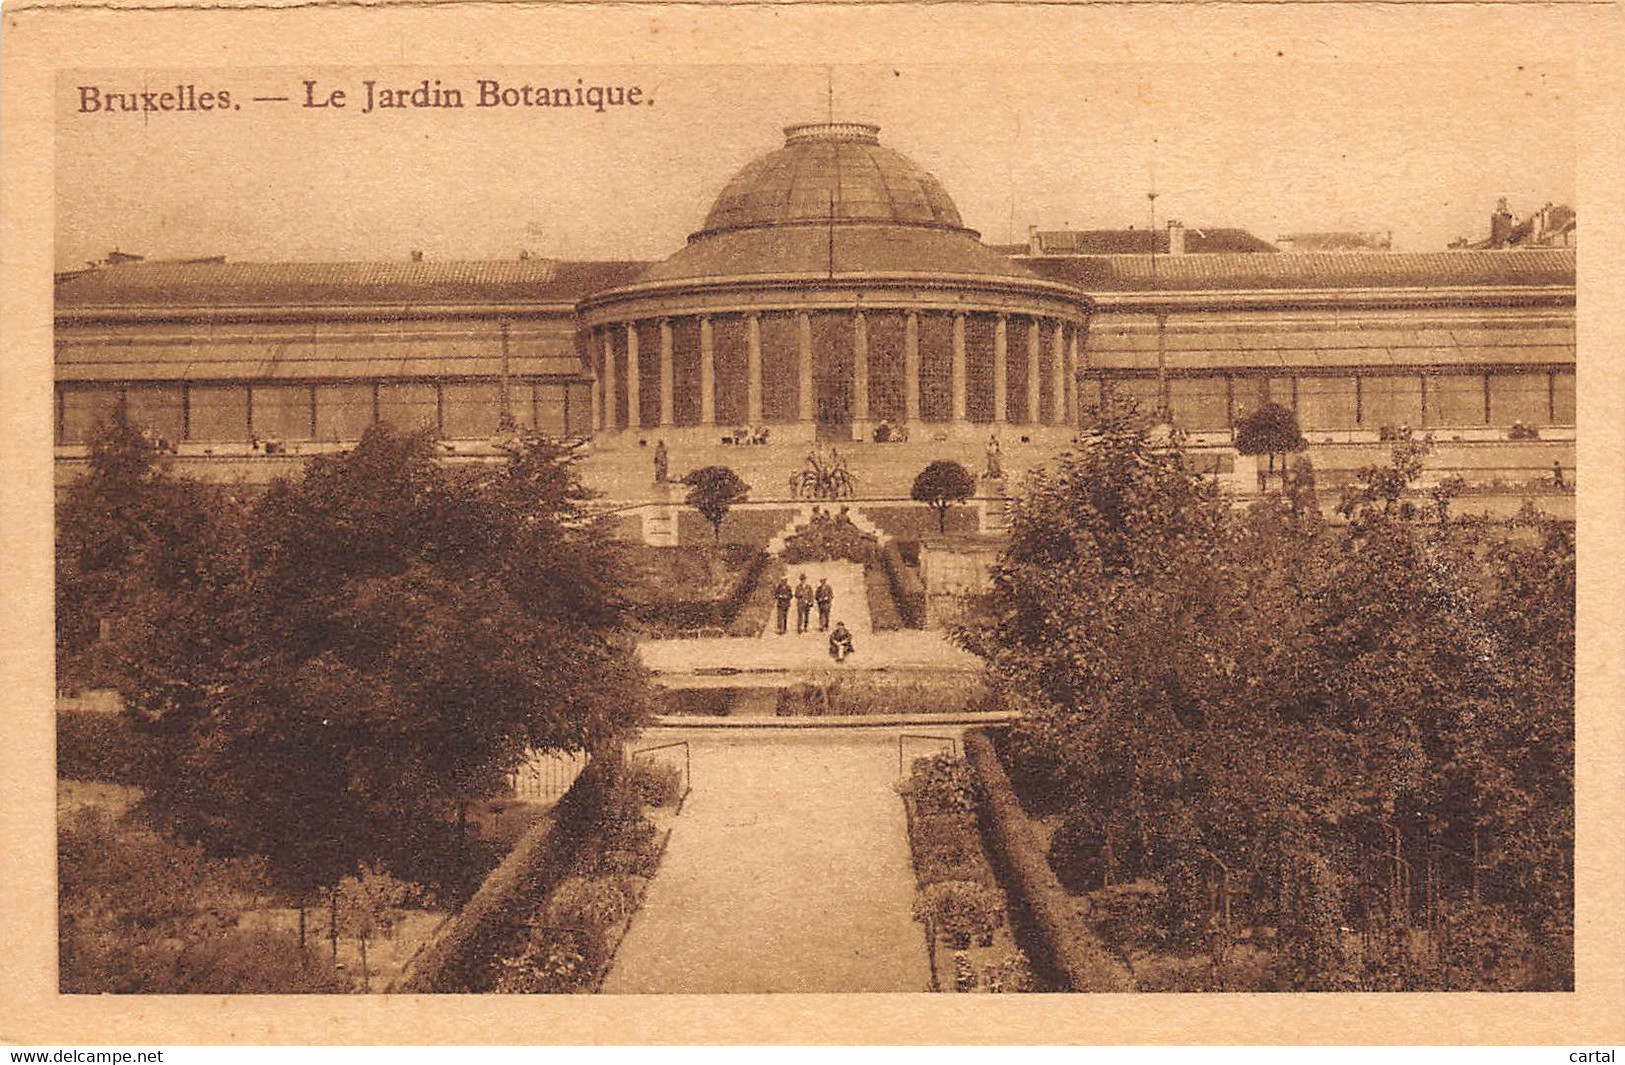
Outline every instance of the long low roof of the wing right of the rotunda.
[[1573, 249], [1323, 255], [1056, 255], [1019, 259], [1086, 293], [1573, 286]]

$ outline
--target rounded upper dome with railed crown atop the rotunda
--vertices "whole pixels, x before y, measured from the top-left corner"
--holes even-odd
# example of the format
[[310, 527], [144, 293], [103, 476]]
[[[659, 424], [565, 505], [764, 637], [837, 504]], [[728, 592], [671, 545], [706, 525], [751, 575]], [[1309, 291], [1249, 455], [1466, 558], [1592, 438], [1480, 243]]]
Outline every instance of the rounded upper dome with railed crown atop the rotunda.
[[942, 182], [879, 133], [864, 122], [785, 127], [785, 146], [734, 174], [696, 236], [832, 218], [964, 229]]

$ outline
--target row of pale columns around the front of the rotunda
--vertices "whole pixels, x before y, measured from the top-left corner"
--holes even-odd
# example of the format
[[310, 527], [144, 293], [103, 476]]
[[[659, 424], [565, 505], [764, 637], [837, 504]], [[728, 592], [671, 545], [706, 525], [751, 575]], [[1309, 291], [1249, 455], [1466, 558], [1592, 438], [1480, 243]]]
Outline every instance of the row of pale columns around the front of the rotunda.
[[[796, 312], [795, 348], [796, 348], [796, 402], [793, 405], [795, 419], [811, 423], [814, 419], [814, 345], [812, 314], [829, 312]], [[871, 328], [873, 314], [852, 311], [852, 395], [850, 421], [863, 431], [871, 424]], [[897, 314], [897, 312], [892, 312]], [[967, 312], [938, 311], [904, 311], [904, 351], [902, 351], [902, 410], [900, 421], [907, 424], [925, 423], [921, 418], [921, 350], [920, 327], [925, 315], [942, 314], [952, 319], [952, 350], [949, 359], [949, 403], [947, 418], [931, 418], [936, 424], [972, 424], [970, 419], [970, 358], [967, 345]], [[600, 325], [590, 335], [590, 354], [598, 374], [593, 389], [593, 426], [595, 429], [637, 428], [670, 428], [678, 424], [697, 424], [702, 428], [717, 426], [717, 393], [718, 389], [744, 390], [744, 423], [751, 426], [765, 424], [762, 405], [762, 314], [746, 312], [738, 315], [687, 315], [699, 320], [699, 410], [697, 423], [687, 418], [679, 423], [676, 416], [676, 351], [671, 317], [653, 319], [658, 324], [660, 353], [655, 371], [639, 371], [639, 325], [648, 325], [650, 319], [637, 322], [619, 322]], [[717, 319], [731, 317], [744, 322], [744, 382], [717, 379]], [[1045, 315], [1011, 315], [1011, 314], [977, 314], [993, 320], [993, 367], [991, 367], [991, 403], [978, 403], [991, 408], [991, 418], [977, 418], [982, 424], [1009, 424], [1011, 419], [1011, 380], [1009, 380], [1009, 343], [1011, 330], [1025, 332], [1027, 359], [1024, 380], [1014, 382], [1025, 397], [1025, 418], [1020, 424], [1071, 426], [1077, 421], [1077, 367], [1079, 367], [1079, 325], [1066, 319]], [[1012, 325], [1012, 320], [1016, 324]], [[1048, 374], [1043, 372], [1043, 348], [1050, 346]], [[626, 415], [621, 411], [621, 384], [626, 385]], [[645, 380], [650, 377], [650, 380]], [[658, 423], [648, 424], [642, 418], [642, 389], [660, 390]], [[986, 387], [986, 385], [978, 385]], [[736, 395], [736, 393], [734, 393]], [[978, 397], [980, 398], [980, 397]], [[1043, 400], [1048, 398], [1048, 411]], [[1043, 415], [1048, 415], [1046, 418]]]

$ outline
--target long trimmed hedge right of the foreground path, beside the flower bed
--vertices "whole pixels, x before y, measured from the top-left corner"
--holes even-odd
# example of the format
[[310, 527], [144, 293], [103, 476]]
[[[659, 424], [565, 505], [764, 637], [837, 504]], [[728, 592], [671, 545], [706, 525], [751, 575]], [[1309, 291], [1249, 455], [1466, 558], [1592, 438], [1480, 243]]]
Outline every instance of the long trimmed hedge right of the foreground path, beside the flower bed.
[[1034, 964], [1058, 987], [1074, 992], [1129, 992], [1134, 977], [1107, 951], [1074, 912], [1074, 899], [1055, 878], [1034, 837], [986, 728], [965, 732], [965, 761], [980, 784], [982, 816], [993, 860], [1016, 907], [1025, 914]]

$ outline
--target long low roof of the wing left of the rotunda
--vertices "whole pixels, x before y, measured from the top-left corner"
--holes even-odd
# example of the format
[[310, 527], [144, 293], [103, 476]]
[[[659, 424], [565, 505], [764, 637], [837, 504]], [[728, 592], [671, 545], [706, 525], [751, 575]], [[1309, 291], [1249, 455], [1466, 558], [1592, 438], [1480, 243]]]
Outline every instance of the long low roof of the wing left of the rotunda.
[[640, 262], [140, 262], [58, 278], [57, 307], [574, 302]]

